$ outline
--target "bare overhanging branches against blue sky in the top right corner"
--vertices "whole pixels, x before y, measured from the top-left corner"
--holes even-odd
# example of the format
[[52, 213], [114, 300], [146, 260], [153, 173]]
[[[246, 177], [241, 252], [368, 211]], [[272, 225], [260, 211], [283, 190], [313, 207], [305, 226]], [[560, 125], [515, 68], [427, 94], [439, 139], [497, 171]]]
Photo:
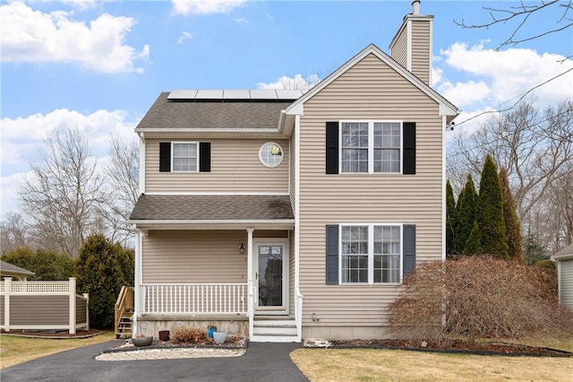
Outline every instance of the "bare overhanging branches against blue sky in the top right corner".
[[[552, 13], [551, 11], [555, 8], [559, 8], [560, 12]], [[511, 30], [509, 37], [500, 42], [498, 49], [516, 46], [532, 39], [541, 39], [550, 34], [566, 31], [573, 26], [570, 13], [573, 9], [571, 0], [542, 1], [540, 4], [526, 4], [522, 1], [518, 5], [512, 5], [505, 9], [489, 6], [484, 6], [483, 9], [490, 14], [491, 20], [489, 22], [466, 23], [464, 19], [461, 22], [454, 22], [462, 28], [490, 29], [498, 24], [509, 26]], [[526, 28], [528, 23], [541, 23], [542, 25], [547, 25], [547, 28], [532, 33], [531, 29]], [[570, 57], [568, 56], [567, 58]]]

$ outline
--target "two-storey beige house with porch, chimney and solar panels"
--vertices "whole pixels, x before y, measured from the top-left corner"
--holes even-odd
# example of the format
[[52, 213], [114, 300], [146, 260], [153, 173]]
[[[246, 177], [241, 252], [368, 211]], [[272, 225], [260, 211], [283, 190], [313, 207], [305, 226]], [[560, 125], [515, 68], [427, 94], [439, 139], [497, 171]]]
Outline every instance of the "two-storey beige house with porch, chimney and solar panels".
[[404, 17], [311, 90], [163, 92], [141, 144], [135, 334], [380, 338], [416, 263], [445, 259], [433, 16]]

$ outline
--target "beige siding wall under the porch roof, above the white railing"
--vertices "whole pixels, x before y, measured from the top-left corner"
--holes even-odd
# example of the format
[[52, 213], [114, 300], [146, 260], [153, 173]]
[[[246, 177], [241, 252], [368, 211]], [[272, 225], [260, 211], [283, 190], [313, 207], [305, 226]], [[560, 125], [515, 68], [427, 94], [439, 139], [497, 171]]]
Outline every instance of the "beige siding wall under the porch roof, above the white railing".
[[142, 282], [247, 282], [247, 239], [246, 230], [150, 230]]

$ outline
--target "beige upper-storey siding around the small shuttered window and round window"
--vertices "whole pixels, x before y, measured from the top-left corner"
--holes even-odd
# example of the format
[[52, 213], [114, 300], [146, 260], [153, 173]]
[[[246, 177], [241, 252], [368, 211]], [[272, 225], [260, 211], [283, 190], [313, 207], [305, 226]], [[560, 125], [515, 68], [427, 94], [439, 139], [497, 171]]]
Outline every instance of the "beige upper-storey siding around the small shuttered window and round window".
[[[159, 172], [159, 143], [168, 139], [147, 139], [145, 144], [145, 189], [147, 193], [185, 192], [288, 192], [288, 140], [210, 139], [210, 172]], [[179, 142], [195, 142], [179, 140]], [[259, 161], [261, 145], [278, 143], [285, 159], [269, 169]]]

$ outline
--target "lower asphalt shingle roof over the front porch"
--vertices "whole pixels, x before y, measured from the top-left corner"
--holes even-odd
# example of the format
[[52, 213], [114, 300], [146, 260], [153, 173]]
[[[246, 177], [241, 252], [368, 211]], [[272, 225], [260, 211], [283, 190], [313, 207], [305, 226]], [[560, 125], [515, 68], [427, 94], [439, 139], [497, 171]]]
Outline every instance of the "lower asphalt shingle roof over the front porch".
[[130, 220], [295, 219], [288, 195], [140, 195]]

